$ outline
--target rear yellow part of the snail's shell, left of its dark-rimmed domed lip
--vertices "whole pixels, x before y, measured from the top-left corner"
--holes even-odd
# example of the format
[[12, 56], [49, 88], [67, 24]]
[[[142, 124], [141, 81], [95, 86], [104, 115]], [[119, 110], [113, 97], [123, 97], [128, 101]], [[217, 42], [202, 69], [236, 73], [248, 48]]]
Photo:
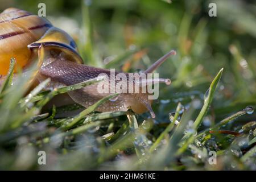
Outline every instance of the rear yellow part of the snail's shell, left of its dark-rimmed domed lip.
[[0, 75], [6, 75], [10, 59], [23, 68], [31, 60], [28, 44], [39, 40], [52, 24], [24, 10], [9, 8], [0, 14]]

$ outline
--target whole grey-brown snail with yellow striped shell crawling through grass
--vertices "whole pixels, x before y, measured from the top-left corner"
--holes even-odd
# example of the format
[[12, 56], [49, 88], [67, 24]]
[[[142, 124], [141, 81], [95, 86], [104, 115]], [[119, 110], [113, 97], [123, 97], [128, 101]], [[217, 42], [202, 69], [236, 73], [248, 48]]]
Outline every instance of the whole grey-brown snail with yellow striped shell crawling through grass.
[[[152, 73], [169, 56], [175, 54], [175, 51], [168, 52], [143, 73]], [[51, 78], [49, 88], [77, 84], [96, 78], [102, 73], [110, 76], [108, 69], [82, 64], [76, 43], [66, 32], [54, 27], [45, 18], [15, 8], [6, 9], [0, 14], [0, 57], [1, 79], [7, 74], [12, 57], [16, 60], [15, 71], [18, 68], [26, 69], [32, 61], [42, 60], [36, 79], [43, 81], [46, 78]], [[120, 72], [115, 73], [115, 75], [118, 73]], [[129, 73], [123, 74], [128, 76]], [[152, 80], [153, 84], [158, 82], [171, 84], [170, 79]], [[147, 77], [146, 81], [148, 81]], [[102, 82], [110, 82], [110, 79]], [[129, 80], [127, 83], [138, 84], [134, 80]], [[73, 101], [88, 107], [110, 94], [98, 92], [98, 84], [73, 90], [68, 94]], [[126, 111], [131, 109], [138, 114], [150, 111], [151, 117], [154, 118], [155, 114], [151, 107], [152, 100], [148, 100], [149, 95], [148, 92], [126, 93], [122, 91], [117, 98], [106, 101], [96, 110]]]

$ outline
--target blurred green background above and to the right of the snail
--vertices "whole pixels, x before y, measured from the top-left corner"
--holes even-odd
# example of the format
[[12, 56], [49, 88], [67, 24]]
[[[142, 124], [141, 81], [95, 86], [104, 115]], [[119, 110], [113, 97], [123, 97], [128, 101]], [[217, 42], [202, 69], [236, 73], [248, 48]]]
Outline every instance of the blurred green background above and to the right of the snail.
[[[76, 40], [85, 64], [138, 72], [177, 51], [157, 70], [172, 80], [171, 86], [160, 85], [154, 104], [159, 122], [168, 121], [177, 102], [203, 101], [221, 68], [207, 119], [213, 123], [256, 106], [255, 1], [0, 0], [0, 10], [16, 7], [37, 14], [40, 2], [46, 3], [46, 18]], [[217, 4], [217, 17], [208, 15], [210, 2]], [[255, 118], [250, 114], [241, 122]]]

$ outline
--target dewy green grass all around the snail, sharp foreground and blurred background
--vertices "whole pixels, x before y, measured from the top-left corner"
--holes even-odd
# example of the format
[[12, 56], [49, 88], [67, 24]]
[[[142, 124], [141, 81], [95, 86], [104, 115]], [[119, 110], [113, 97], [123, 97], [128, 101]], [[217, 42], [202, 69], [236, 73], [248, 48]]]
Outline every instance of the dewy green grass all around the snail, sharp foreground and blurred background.
[[[95, 111], [115, 95], [88, 108], [46, 108], [54, 96], [101, 78], [44, 90], [47, 79], [28, 92], [37, 67], [14, 76], [12, 59], [0, 88], [0, 169], [256, 169], [253, 6], [214, 1], [217, 18], [210, 18], [206, 1], [45, 2], [48, 15], [79, 22], [72, 36], [85, 64], [139, 72], [176, 49], [157, 70], [172, 84], [159, 85], [155, 119]], [[36, 1], [14, 3], [36, 13]], [[46, 151], [46, 165], [38, 164], [38, 151]], [[217, 152], [216, 165], [209, 164], [210, 151]]]

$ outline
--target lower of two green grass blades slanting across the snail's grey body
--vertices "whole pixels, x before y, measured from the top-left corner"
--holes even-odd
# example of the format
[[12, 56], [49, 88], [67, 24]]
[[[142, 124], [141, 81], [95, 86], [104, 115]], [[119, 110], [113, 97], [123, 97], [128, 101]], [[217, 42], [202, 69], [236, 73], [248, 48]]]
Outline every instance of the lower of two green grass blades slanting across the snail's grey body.
[[68, 130], [69, 128], [73, 127], [77, 122], [79, 122], [80, 119], [84, 118], [87, 114], [97, 109], [98, 106], [108, 101], [110, 98], [117, 97], [117, 96], [118, 96], [118, 93], [115, 93], [110, 96], [102, 98], [101, 100], [97, 101], [95, 104], [88, 107], [84, 111], [81, 111], [81, 113], [79, 113], [75, 118], [69, 119], [66, 123], [63, 124], [63, 126], [61, 126], [61, 129]]

